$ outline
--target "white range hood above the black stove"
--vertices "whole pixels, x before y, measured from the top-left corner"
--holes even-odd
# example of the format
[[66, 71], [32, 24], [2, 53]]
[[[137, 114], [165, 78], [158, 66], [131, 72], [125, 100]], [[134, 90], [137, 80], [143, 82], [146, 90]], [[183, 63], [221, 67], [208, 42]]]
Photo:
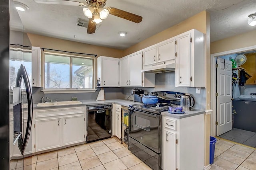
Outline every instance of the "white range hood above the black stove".
[[150, 66], [141, 70], [141, 72], [148, 72], [148, 73], [162, 73], [162, 72], [171, 72], [175, 71], [175, 61], [173, 63], [162, 63], [156, 66]]

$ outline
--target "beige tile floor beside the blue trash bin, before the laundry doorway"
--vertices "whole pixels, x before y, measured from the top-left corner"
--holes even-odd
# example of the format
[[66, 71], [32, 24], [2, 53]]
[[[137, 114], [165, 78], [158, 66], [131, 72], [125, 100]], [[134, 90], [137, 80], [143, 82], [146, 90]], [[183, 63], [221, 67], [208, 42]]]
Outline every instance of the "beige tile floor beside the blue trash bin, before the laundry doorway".
[[256, 170], [256, 148], [217, 139], [211, 170]]

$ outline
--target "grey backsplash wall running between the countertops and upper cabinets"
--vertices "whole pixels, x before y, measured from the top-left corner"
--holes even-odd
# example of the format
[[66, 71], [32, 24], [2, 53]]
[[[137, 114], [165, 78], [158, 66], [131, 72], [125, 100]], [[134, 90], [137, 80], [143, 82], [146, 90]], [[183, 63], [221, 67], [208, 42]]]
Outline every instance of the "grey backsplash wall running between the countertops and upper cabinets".
[[[105, 99], [127, 99], [132, 94], [134, 88], [104, 88]], [[155, 87], [154, 88], [140, 88], [146, 92], [154, 91], [174, 91], [182, 93], [190, 93], [195, 98], [195, 109], [205, 109], [206, 105], [206, 92], [205, 88], [201, 88], [201, 94], [196, 94], [196, 88], [181, 88], [175, 87], [175, 72], [166, 72], [155, 74]], [[53, 101], [68, 101], [72, 97], [77, 97], [77, 100], [96, 100], [100, 88], [97, 88], [95, 93], [68, 93], [68, 94], [44, 94], [41, 92], [42, 88], [32, 88], [33, 102], [41, 102], [41, 98], [48, 97]], [[133, 96], [131, 96], [133, 100]]]

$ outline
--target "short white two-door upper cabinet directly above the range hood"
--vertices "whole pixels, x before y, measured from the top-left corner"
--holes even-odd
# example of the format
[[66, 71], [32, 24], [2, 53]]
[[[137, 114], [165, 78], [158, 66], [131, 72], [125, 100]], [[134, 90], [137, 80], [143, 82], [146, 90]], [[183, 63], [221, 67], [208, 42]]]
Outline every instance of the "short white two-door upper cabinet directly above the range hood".
[[[170, 38], [143, 50], [143, 69], [168, 64], [168, 61], [175, 59], [176, 39]], [[166, 63], [165, 63], [166, 62]]]

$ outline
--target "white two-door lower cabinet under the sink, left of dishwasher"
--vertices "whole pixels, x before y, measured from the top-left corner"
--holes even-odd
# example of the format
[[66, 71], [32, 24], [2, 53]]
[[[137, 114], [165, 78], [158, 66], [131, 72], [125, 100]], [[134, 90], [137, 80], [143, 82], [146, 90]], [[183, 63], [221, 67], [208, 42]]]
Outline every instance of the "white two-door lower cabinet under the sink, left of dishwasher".
[[36, 109], [34, 152], [84, 142], [84, 107]]

